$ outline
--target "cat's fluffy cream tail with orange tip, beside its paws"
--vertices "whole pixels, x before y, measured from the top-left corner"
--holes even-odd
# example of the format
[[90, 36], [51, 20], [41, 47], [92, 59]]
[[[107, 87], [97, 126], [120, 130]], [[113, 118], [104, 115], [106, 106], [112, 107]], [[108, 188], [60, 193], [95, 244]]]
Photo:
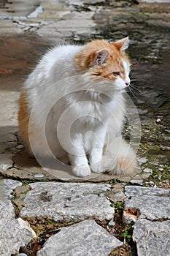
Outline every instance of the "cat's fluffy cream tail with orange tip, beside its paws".
[[101, 162], [104, 170], [113, 175], [134, 176], [139, 173], [135, 151], [121, 136], [109, 143]]

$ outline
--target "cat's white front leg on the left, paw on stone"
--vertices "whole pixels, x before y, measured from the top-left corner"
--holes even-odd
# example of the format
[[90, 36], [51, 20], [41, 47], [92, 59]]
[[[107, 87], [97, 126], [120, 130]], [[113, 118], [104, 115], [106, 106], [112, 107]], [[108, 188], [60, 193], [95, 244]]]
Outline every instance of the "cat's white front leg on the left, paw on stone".
[[69, 162], [72, 165], [72, 173], [78, 177], [90, 176], [91, 171], [85, 154], [82, 135], [72, 139], [72, 144], [71, 154], [68, 154]]

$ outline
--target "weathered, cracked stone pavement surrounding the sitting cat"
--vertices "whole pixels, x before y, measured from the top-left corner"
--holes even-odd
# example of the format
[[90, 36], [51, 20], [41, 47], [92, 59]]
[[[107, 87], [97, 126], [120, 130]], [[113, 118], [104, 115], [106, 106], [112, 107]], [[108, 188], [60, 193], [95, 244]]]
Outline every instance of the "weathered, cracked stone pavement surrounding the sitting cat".
[[[169, 103], [152, 86], [156, 80], [169, 92], [170, 1], [149, 2], [0, 1], [0, 255], [170, 255]], [[143, 96], [136, 102], [141, 173], [82, 179], [63, 170], [57, 176], [45, 172], [18, 136], [18, 97], [28, 67], [53, 43], [127, 33], [134, 77], [145, 79], [138, 81]]]

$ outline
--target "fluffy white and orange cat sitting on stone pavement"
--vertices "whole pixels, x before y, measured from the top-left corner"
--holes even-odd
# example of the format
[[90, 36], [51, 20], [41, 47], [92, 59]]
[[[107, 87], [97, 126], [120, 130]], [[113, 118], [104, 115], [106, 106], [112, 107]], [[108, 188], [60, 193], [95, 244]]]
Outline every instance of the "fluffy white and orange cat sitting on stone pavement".
[[58, 46], [43, 56], [19, 102], [20, 134], [35, 157], [53, 154], [80, 177], [135, 173], [134, 150], [121, 137], [131, 82], [126, 48], [128, 37]]

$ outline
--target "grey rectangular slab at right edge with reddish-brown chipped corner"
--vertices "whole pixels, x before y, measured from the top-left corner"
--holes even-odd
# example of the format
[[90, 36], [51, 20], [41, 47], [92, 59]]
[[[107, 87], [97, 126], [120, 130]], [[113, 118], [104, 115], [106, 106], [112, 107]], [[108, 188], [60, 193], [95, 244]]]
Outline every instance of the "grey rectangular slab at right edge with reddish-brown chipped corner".
[[169, 199], [170, 189], [127, 186], [125, 187], [124, 221], [135, 221], [137, 217], [150, 220], [169, 219]]

